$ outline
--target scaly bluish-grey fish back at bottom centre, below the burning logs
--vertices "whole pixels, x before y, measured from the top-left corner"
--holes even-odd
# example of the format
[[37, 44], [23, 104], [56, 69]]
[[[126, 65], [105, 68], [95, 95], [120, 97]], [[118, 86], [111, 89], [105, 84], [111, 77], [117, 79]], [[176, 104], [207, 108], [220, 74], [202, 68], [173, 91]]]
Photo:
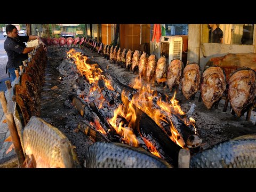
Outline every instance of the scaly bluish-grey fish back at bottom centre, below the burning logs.
[[95, 142], [85, 151], [85, 168], [172, 168], [145, 149], [115, 142]]

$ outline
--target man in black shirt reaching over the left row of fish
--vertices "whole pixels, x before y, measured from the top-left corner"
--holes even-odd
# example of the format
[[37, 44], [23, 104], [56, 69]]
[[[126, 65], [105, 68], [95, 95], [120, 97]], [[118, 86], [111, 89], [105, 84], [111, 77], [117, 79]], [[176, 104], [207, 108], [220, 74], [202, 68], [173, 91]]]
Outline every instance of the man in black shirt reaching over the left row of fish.
[[8, 69], [12, 81], [15, 79], [15, 70], [23, 65], [22, 61], [28, 59], [28, 53], [35, 47], [26, 47], [25, 43], [31, 40], [38, 39], [39, 43], [42, 42], [39, 36], [19, 36], [18, 29], [14, 25], [6, 26], [6, 39], [4, 42], [4, 50], [7, 53], [8, 61], [6, 68]]

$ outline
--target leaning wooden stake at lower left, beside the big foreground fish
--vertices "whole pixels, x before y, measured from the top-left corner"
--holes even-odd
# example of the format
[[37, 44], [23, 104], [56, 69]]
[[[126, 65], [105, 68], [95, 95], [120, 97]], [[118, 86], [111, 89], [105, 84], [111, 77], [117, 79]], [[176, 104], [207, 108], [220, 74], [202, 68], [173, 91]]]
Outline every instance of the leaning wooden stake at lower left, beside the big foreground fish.
[[15, 125], [13, 115], [12, 113], [6, 113], [5, 116], [6, 116], [10, 134], [12, 137], [15, 153], [17, 154], [17, 157], [18, 157], [19, 167], [24, 168], [25, 166], [23, 165], [23, 162], [25, 161], [25, 156], [23, 154], [20, 138], [17, 132], [17, 127]]

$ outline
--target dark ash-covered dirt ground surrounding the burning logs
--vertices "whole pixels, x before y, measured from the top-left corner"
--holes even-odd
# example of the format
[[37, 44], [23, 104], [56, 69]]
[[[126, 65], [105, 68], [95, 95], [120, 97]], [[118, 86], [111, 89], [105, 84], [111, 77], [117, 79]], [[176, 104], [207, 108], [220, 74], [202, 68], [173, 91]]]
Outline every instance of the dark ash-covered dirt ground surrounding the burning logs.
[[[77, 124], [83, 120], [83, 117], [71, 105], [68, 98], [70, 94], [77, 93], [76, 79], [78, 77], [71, 70], [70, 59], [67, 58], [66, 51], [69, 51], [69, 49], [70, 47], [49, 47], [48, 49], [45, 84], [41, 93], [41, 118], [57, 127], [67, 136], [75, 146], [78, 159], [83, 164], [85, 149], [94, 141], [82, 132], [77, 131]], [[121, 68], [121, 66], [110, 63], [109, 60], [89, 49], [81, 50], [75, 48], [75, 50], [89, 55], [91, 61], [99, 63], [101, 67], [106, 69], [107, 73], [116, 77], [123, 84], [129, 85], [138, 76], [131, 71]], [[69, 78], [61, 81], [60, 77], [63, 76], [68, 76]], [[146, 83], [143, 82], [143, 85], [146, 85]], [[57, 89], [51, 90], [54, 86], [57, 86]], [[156, 84], [151, 84], [150, 86], [151, 89], [170, 96], [173, 95], [173, 92], [170, 92], [166, 86], [163, 87], [163, 85]], [[198, 102], [198, 97], [199, 93], [196, 94], [195, 100], [186, 100], [180, 94], [180, 91], [176, 95], [176, 98], [181, 101], [180, 105], [185, 113], [189, 110], [192, 103], [196, 105], [192, 117], [196, 121], [198, 133], [203, 139], [201, 150], [205, 150], [227, 139], [256, 133], [254, 111], [252, 111], [251, 121], [246, 121], [245, 116], [237, 118], [231, 115], [230, 106], [227, 112], [222, 112], [225, 100], [221, 100], [218, 109], [213, 107], [209, 110], [204, 106], [203, 102]]]

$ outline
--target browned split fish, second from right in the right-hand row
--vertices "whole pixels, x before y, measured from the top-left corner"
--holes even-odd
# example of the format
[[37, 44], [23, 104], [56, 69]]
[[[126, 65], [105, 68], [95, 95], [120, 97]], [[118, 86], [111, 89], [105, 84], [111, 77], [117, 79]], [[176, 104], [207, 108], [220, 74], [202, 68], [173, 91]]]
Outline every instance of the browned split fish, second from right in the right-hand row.
[[200, 89], [205, 107], [211, 109], [213, 103], [218, 101], [226, 90], [225, 71], [218, 66], [205, 69]]

